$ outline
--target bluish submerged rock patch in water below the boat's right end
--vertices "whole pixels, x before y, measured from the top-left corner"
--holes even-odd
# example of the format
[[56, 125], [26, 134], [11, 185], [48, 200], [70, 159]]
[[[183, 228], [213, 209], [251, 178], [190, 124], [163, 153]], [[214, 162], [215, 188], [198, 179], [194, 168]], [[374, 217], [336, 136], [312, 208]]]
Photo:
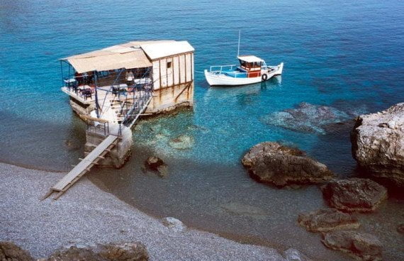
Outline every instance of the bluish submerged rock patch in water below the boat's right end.
[[325, 134], [323, 126], [346, 121], [350, 116], [330, 106], [302, 102], [295, 109], [286, 109], [264, 116], [264, 123], [303, 133]]

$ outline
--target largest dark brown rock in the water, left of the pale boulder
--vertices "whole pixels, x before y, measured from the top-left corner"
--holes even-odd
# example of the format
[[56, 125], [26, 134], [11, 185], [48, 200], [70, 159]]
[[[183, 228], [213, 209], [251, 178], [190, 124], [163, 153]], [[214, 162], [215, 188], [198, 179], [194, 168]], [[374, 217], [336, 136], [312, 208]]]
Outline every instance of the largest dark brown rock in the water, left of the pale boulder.
[[253, 177], [279, 187], [319, 183], [332, 178], [332, 172], [324, 164], [305, 156], [301, 150], [279, 143], [254, 145], [242, 158], [242, 164]]

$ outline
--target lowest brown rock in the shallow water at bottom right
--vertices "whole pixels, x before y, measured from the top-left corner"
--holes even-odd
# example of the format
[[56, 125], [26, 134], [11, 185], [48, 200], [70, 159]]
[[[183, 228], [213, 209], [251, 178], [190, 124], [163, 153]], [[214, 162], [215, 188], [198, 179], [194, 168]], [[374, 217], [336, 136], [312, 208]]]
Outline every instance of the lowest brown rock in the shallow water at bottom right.
[[354, 231], [334, 231], [323, 235], [322, 243], [332, 250], [347, 252], [357, 260], [382, 260], [383, 245], [374, 235]]

